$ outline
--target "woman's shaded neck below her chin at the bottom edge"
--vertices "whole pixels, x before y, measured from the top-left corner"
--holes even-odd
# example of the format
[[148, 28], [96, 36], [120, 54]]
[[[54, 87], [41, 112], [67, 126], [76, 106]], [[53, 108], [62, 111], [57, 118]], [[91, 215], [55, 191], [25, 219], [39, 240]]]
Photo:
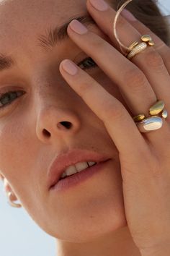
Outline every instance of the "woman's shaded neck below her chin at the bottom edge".
[[56, 239], [56, 247], [56, 256], [141, 256], [127, 226], [90, 242], [76, 243]]

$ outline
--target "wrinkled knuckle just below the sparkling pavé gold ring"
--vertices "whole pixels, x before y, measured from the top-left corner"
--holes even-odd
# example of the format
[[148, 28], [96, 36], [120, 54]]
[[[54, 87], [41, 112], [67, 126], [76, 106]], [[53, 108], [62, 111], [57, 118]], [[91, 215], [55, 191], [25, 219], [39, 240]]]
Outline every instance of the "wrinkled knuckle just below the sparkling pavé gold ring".
[[160, 69], [160, 67], [164, 67], [164, 61], [161, 55], [153, 49], [150, 49], [150, 51], [148, 51], [146, 54], [145, 62], [148, 67], [153, 69]]

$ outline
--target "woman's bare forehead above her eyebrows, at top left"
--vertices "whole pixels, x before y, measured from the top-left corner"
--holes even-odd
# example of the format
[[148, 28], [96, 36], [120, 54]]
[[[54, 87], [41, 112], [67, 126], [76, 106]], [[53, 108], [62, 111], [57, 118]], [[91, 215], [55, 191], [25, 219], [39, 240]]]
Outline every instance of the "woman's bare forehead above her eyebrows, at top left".
[[27, 48], [31, 53], [37, 35], [85, 11], [86, 0], [0, 1], [0, 51], [12, 54]]

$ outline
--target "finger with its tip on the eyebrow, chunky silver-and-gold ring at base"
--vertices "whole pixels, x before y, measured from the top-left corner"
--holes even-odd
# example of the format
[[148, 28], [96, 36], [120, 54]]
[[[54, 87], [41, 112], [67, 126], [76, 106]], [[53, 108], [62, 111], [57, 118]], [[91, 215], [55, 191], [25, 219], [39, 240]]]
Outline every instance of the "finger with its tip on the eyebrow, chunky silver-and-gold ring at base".
[[156, 95], [143, 72], [96, 33], [89, 30], [81, 35], [75, 33], [73, 25], [77, 24], [81, 25], [73, 20], [68, 26], [68, 35], [71, 39], [91, 56], [120, 88], [131, 112], [134, 115], [143, 113], [147, 116], [148, 109], [156, 102]]

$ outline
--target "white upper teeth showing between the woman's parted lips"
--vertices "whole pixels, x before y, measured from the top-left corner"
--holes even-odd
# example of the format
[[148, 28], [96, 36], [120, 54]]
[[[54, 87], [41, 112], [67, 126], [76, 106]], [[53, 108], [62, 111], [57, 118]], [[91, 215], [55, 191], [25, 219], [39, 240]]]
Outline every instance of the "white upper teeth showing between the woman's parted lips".
[[61, 178], [65, 178], [66, 176], [70, 176], [72, 174], [76, 174], [77, 172], [83, 171], [89, 166], [94, 166], [96, 162], [83, 162], [83, 163], [76, 163], [75, 166], [69, 166], [66, 168], [66, 171], [63, 172]]

